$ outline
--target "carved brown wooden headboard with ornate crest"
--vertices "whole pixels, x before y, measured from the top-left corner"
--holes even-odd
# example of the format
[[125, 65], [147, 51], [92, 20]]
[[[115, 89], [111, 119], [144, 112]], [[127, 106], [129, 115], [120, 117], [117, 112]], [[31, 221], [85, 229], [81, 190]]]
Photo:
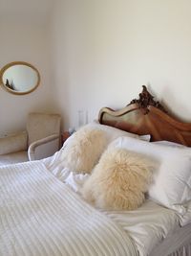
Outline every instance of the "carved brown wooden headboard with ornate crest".
[[120, 110], [103, 107], [99, 123], [138, 135], [151, 135], [151, 141], [167, 140], [191, 146], [191, 123], [183, 123], [170, 116], [166, 109], [142, 85], [138, 100]]

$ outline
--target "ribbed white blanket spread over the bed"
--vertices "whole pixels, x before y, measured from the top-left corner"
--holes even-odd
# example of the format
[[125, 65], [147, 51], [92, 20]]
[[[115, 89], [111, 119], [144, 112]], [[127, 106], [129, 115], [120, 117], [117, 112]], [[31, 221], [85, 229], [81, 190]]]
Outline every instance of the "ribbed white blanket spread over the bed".
[[1, 256], [137, 255], [128, 233], [41, 161], [0, 168]]

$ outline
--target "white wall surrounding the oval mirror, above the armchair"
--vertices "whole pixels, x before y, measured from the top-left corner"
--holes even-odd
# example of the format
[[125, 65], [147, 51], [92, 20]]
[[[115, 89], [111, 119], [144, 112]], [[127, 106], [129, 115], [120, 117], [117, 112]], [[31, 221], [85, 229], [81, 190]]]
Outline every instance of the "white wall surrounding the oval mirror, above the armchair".
[[7, 19], [0, 22], [0, 68], [22, 60], [34, 65], [40, 72], [41, 82], [31, 94], [13, 95], [0, 87], [0, 136], [24, 129], [31, 111], [52, 111], [53, 86], [49, 27], [32, 24], [28, 20]]

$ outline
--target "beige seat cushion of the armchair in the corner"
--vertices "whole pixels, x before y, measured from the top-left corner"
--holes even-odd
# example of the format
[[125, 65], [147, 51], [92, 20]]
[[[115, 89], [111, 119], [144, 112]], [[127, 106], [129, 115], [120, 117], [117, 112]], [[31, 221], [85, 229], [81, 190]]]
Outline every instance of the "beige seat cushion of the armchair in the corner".
[[29, 161], [27, 151], [19, 151], [0, 155], [0, 166]]

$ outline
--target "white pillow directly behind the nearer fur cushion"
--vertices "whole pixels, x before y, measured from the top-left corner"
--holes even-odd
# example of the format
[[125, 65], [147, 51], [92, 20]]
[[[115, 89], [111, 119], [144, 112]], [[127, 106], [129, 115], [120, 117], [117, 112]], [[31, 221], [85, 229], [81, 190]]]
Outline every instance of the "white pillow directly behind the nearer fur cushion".
[[154, 172], [149, 197], [180, 214], [186, 212], [183, 204], [191, 200], [190, 149], [166, 147], [128, 137], [118, 138], [110, 147], [144, 153], [156, 159], [159, 168]]

